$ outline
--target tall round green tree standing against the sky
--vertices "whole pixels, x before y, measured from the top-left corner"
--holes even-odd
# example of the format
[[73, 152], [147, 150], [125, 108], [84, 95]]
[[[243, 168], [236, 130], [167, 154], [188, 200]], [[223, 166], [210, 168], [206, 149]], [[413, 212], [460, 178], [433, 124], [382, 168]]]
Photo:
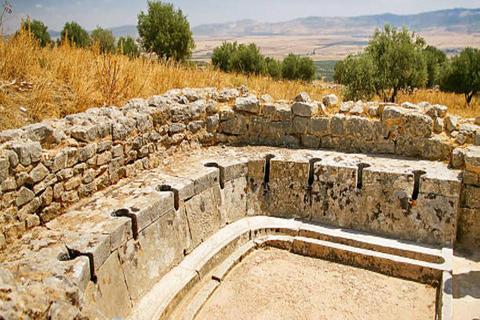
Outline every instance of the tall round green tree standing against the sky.
[[152, 50], [159, 58], [185, 61], [192, 54], [195, 43], [187, 18], [173, 4], [147, 1], [148, 12], [138, 15], [138, 33], [145, 50]]

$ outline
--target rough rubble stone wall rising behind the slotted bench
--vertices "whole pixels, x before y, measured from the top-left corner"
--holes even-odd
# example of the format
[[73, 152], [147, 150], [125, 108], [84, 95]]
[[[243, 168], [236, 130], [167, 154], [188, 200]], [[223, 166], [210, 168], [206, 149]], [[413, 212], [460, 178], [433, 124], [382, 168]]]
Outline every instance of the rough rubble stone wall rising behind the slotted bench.
[[295, 101], [258, 99], [245, 87], [171, 90], [1, 132], [0, 247], [81, 198], [158, 167], [179, 148], [218, 143], [450, 161], [465, 169], [460, 221], [467, 225], [460, 234], [478, 243], [480, 164], [471, 145], [480, 144], [480, 130], [473, 120], [428, 103], [342, 103], [341, 113], [327, 115], [336, 103], [331, 96], [311, 102], [306, 94]]

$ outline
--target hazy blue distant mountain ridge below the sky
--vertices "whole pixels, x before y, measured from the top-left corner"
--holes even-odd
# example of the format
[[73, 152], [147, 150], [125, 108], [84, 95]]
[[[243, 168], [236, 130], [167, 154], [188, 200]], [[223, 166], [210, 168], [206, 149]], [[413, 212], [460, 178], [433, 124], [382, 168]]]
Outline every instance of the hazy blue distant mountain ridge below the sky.
[[446, 31], [476, 33], [480, 32], [480, 8], [457, 8], [413, 15], [385, 13], [358, 17], [311, 16], [276, 23], [240, 20], [200, 25], [194, 27], [192, 31], [196, 36], [312, 35], [343, 33], [354, 29], [371, 30], [381, 28], [385, 23], [395, 27], [405, 25], [408, 29], [415, 31], [443, 28]]

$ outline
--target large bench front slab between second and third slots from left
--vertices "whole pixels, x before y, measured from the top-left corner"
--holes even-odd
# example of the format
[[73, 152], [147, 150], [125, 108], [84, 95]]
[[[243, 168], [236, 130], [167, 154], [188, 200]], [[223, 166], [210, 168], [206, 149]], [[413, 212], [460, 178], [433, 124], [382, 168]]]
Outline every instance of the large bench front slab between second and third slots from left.
[[184, 258], [190, 246], [185, 207], [170, 210], [119, 250], [120, 263], [132, 300], [147, 293]]

